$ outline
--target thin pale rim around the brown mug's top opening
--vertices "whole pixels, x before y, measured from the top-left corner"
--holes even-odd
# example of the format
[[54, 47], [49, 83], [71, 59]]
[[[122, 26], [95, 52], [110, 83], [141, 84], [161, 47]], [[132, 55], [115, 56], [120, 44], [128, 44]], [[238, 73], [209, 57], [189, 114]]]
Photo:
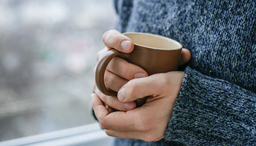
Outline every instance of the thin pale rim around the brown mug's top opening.
[[178, 46], [178, 48], [175, 48], [175, 49], [163, 49], [163, 48], [155, 48], [155, 47], [148, 47], [148, 46], [144, 46], [144, 45], [139, 45], [137, 43], [134, 43], [134, 45], [137, 45], [137, 46], [140, 46], [140, 47], [145, 47], [145, 48], [149, 48], [149, 49], [155, 49], [155, 50], [180, 50], [182, 49], [182, 45], [180, 42], [178, 41], [175, 41], [174, 39], [171, 39], [171, 38], [167, 38], [167, 37], [164, 37], [162, 35], [157, 35], [157, 34], [150, 34], [150, 33], [145, 33], [145, 32], [124, 32], [123, 35], [125, 34], [144, 34], [144, 35], [153, 35], [155, 37], [161, 37], [161, 38], [164, 38], [164, 39], [169, 39], [171, 40], [172, 42], [176, 43]]

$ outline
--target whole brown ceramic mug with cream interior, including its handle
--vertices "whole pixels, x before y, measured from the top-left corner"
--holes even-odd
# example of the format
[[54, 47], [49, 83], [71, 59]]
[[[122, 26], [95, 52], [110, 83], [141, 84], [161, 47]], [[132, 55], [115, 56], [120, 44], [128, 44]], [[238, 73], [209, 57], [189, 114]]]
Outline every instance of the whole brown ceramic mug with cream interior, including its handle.
[[[112, 49], [105, 53], [96, 67], [96, 85], [103, 94], [117, 96], [117, 92], [107, 89], [104, 84], [104, 73], [110, 60], [118, 56], [144, 69], [148, 76], [178, 70], [182, 45], [173, 39], [142, 32], [126, 32], [123, 35], [134, 43], [131, 53], [122, 53]], [[146, 103], [147, 98], [137, 99], [137, 107]]]

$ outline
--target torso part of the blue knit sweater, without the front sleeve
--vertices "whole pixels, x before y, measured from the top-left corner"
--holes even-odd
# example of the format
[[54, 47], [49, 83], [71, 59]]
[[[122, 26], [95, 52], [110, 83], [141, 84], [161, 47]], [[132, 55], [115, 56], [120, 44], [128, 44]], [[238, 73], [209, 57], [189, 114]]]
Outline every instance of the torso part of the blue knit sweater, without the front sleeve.
[[172, 38], [191, 51], [189, 66], [256, 91], [253, 0], [116, 0], [121, 32]]

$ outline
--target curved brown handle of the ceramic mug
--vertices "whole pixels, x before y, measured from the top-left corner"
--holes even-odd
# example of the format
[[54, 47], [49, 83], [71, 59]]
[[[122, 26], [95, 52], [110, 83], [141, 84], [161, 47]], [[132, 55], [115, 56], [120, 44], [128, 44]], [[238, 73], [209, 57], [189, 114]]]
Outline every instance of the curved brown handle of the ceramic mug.
[[117, 92], [106, 88], [104, 83], [104, 73], [111, 59], [113, 59], [116, 56], [123, 59], [128, 58], [127, 53], [122, 53], [120, 51], [117, 51], [116, 49], [112, 49], [103, 55], [103, 57], [101, 58], [101, 60], [99, 61], [96, 67], [96, 72], [95, 72], [95, 82], [99, 91], [109, 96], [117, 96]]

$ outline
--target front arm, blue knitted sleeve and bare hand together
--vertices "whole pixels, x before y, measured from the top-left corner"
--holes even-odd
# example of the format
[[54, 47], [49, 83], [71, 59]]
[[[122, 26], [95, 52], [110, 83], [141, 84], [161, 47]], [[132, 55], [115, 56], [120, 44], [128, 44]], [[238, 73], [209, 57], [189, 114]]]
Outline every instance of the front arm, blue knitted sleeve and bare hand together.
[[148, 95], [146, 104], [127, 112], [109, 112], [98, 95], [92, 95], [95, 115], [105, 132], [144, 141], [165, 137], [188, 145], [255, 143], [255, 94], [237, 85], [187, 68], [185, 73], [130, 80], [117, 97], [130, 102]]

